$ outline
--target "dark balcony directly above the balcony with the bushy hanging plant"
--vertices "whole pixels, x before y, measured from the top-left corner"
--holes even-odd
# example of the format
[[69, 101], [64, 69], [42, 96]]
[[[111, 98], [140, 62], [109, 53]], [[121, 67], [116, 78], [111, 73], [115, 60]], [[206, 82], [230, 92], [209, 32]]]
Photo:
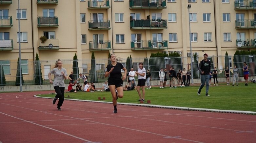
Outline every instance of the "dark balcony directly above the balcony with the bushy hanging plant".
[[58, 17], [37, 17], [37, 27], [59, 27], [58, 25]]

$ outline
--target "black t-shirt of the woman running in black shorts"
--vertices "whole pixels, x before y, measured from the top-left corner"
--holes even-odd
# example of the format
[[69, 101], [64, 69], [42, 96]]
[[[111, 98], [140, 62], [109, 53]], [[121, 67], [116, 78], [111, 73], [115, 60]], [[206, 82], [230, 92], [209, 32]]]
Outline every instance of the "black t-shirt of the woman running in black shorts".
[[122, 77], [121, 69], [124, 68], [124, 65], [121, 63], [116, 62], [116, 65], [113, 66], [112, 64], [108, 64], [106, 67], [106, 72], [109, 72], [110, 69], [114, 67], [112, 72], [109, 74], [109, 79], [119, 79]]

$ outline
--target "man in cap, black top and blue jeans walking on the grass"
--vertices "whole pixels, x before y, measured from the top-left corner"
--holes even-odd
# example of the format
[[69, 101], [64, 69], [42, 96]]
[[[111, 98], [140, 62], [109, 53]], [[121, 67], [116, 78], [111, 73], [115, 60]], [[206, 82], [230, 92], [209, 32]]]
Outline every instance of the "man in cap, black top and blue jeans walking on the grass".
[[200, 95], [201, 90], [203, 89], [203, 87], [206, 84], [206, 94], [205, 96], [210, 96], [208, 94], [209, 91], [209, 75], [210, 70], [211, 70], [211, 62], [207, 59], [208, 55], [207, 53], [204, 54], [204, 60], [202, 60], [199, 65], [198, 65], [198, 70], [200, 72], [201, 75], [201, 85], [200, 88], [198, 89], [197, 95]]

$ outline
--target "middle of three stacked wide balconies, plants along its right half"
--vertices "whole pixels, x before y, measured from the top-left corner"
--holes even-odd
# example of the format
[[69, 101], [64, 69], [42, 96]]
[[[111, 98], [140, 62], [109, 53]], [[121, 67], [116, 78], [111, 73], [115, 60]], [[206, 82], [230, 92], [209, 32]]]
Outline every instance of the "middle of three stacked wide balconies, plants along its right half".
[[130, 29], [167, 29], [166, 20], [131, 20]]

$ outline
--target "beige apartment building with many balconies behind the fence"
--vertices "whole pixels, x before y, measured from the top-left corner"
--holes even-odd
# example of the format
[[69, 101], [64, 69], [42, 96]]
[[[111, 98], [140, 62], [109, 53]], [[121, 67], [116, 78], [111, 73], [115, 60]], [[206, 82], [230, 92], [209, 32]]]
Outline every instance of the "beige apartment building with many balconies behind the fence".
[[[255, 0], [0, 0], [0, 62], [233, 55], [255, 49]], [[188, 12], [187, 6], [191, 5]], [[18, 34], [20, 17], [20, 35]], [[42, 43], [41, 36], [47, 41]]]

